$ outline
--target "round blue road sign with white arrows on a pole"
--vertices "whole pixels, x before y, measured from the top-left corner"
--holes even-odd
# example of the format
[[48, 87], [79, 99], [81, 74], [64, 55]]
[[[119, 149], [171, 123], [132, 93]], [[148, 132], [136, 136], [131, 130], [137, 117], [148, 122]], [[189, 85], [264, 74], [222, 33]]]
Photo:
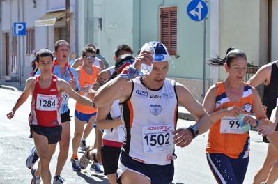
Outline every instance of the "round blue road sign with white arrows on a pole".
[[187, 5], [187, 14], [194, 21], [200, 21], [208, 15], [208, 6], [202, 0], [192, 0]]

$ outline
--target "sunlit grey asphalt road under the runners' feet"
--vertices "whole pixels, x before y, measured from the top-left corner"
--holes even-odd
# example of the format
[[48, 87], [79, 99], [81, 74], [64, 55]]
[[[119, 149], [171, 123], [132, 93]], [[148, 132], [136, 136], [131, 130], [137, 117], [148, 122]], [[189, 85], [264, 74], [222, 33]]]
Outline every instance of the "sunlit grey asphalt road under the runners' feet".
[[[30, 183], [31, 172], [26, 167], [25, 161], [33, 148], [33, 139], [29, 139], [28, 116], [30, 111], [31, 98], [17, 110], [12, 120], [6, 118], [6, 114], [15, 104], [20, 96], [20, 91], [0, 89], [0, 183]], [[73, 116], [75, 100], [70, 99], [70, 115]], [[178, 128], [186, 128], [192, 125], [193, 121], [178, 120]], [[74, 133], [74, 124], [71, 123], [71, 135]], [[94, 133], [87, 139], [87, 145], [93, 144]], [[244, 183], [252, 183], [252, 178], [263, 163], [268, 144], [262, 142], [257, 132], [251, 131], [251, 153], [249, 167]], [[176, 148], [178, 158], [175, 160], [175, 176], [173, 183], [216, 183], [206, 162], [206, 141], [208, 132], [196, 137], [192, 144], [186, 148]], [[106, 176], [96, 175], [88, 168], [84, 171], [72, 171], [69, 151], [68, 162], [62, 171], [61, 176], [69, 183], [109, 183]], [[52, 158], [50, 170], [52, 176], [56, 168], [56, 159], [59, 153], [59, 146]], [[79, 158], [83, 151], [79, 151]]]

